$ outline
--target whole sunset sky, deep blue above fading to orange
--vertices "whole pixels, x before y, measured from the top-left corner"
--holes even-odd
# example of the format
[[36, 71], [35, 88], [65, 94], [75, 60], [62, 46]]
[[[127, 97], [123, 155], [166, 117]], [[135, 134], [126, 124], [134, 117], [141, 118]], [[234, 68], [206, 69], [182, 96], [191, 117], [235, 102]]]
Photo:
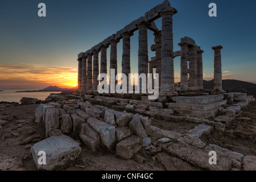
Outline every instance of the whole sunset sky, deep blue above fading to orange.
[[[46, 4], [46, 17], [38, 4]], [[163, 0], [1, 0], [0, 89], [62, 88], [77, 84], [77, 55], [115, 34]], [[256, 1], [169, 0], [173, 16], [174, 51], [189, 36], [203, 53], [204, 80], [213, 79], [213, 46], [222, 45], [222, 78], [256, 83]], [[217, 17], [209, 17], [209, 3]], [[155, 21], [160, 29], [162, 20]], [[154, 44], [148, 30], [148, 55]], [[118, 43], [121, 72], [122, 40]], [[108, 69], [110, 48], [107, 51]], [[100, 58], [100, 56], [99, 56]], [[150, 58], [149, 58], [150, 59]], [[174, 59], [175, 82], [180, 81], [180, 57]], [[108, 70], [109, 71], [109, 70]], [[131, 36], [131, 72], [138, 72], [138, 31]]]

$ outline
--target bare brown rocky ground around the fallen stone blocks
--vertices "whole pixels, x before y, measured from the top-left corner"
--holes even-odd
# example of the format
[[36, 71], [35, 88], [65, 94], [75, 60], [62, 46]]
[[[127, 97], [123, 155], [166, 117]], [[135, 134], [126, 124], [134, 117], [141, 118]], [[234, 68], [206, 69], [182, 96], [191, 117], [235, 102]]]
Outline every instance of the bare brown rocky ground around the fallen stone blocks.
[[[45, 134], [44, 126], [34, 122], [36, 107], [38, 104], [0, 104], [0, 170], [36, 170], [30, 147], [44, 139]], [[184, 134], [197, 124], [154, 120], [151, 125]], [[154, 140], [156, 136], [152, 134], [150, 137]], [[224, 133], [213, 131], [201, 139], [207, 144], [255, 156], [256, 102], [245, 107]], [[166, 155], [166, 151], [151, 154], [142, 149], [132, 159], [125, 160], [115, 154], [115, 149], [113, 152], [103, 149], [92, 152], [77, 141], [82, 148], [79, 158], [60, 170], [201, 170], [174, 155]]]

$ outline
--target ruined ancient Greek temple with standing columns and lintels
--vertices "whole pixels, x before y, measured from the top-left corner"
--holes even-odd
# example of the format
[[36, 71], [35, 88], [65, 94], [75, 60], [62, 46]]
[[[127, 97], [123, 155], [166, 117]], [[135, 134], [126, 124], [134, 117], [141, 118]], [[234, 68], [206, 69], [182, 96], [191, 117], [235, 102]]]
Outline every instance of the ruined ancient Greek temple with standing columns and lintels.
[[[80, 93], [97, 92], [100, 73], [107, 73], [106, 56], [107, 49], [110, 48], [110, 68], [115, 69], [117, 75], [117, 44], [122, 39], [122, 73], [127, 76], [127, 89], [131, 84], [129, 82], [129, 73], [131, 72], [130, 60], [130, 38], [134, 31], [139, 31], [138, 47], [138, 74], [155, 73], [159, 74], [160, 95], [175, 95], [177, 90], [203, 90], [203, 50], [196, 45], [195, 40], [185, 36], [181, 38], [180, 51], [174, 52], [173, 34], [172, 34], [172, 16], [177, 13], [174, 7], [166, 0], [162, 4], [155, 6], [145, 13], [144, 16], [127, 24], [122, 30], [109, 36], [101, 43], [92, 47], [88, 51], [81, 52], [78, 55], [79, 73], [78, 90]], [[158, 30], [154, 20], [162, 18], [162, 30]], [[151, 51], [155, 51], [155, 57], [148, 60], [148, 37], [147, 30], [154, 32], [154, 42], [151, 45]], [[221, 77], [221, 46], [214, 49], [214, 89], [222, 91]], [[99, 57], [100, 67], [99, 67]], [[180, 85], [175, 87], [174, 82], [174, 58], [180, 56]], [[164, 65], [164, 67], [162, 66]], [[148, 78], [147, 78], [148, 79]], [[154, 85], [154, 79], [152, 79]], [[110, 87], [117, 84], [117, 80], [110, 82]], [[138, 81], [141, 88], [142, 82]]]

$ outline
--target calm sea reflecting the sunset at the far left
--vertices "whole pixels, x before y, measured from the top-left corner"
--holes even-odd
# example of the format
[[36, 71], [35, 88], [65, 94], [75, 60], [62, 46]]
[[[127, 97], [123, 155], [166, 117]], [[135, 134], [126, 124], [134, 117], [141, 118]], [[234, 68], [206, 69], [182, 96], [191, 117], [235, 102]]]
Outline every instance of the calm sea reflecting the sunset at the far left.
[[[0, 89], [2, 90], [2, 89]], [[36, 89], [31, 89], [36, 90]], [[22, 97], [31, 97], [37, 98], [38, 100], [45, 100], [50, 93], [60, 93], [60, 92], [15, 92], [15, 91], [23, 91], [23, 90], [3, 90], [0, 92], [0, 102], [19, 102]]]

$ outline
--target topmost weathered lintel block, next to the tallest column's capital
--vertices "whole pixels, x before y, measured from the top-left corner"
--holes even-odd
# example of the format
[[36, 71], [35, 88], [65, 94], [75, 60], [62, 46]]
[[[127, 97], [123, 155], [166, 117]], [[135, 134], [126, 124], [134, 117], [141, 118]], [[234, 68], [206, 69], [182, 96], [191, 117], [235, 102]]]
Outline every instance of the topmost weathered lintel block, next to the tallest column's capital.
[[144, 20], [147, 22], [153, 22], [154, 20], [160, 18], [159, 13], [161, 10], [166, 9], [167, 7], [170, 7], [170, 2], [168, 0], [164, 1], [162, 4], [155, 6], [151, 10], [147, 11], [144, 15]]

